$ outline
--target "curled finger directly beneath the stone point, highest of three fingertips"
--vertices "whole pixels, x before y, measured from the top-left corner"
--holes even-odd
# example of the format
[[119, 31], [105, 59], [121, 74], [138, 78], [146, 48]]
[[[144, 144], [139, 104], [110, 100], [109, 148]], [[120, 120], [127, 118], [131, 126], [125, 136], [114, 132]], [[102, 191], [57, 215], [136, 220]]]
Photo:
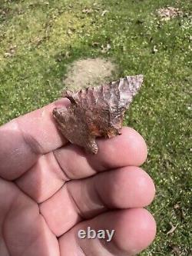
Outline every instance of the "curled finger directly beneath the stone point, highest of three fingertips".
[[98, 139], [98, 154], [86, 154], [81, 148], [66, 145], [55, 150], [55, 158], [68, 178], [86, 178], [98, 171], [126, 165], [140, 166], [147, 158], [144, 138], [132, 128], [111, 139]]

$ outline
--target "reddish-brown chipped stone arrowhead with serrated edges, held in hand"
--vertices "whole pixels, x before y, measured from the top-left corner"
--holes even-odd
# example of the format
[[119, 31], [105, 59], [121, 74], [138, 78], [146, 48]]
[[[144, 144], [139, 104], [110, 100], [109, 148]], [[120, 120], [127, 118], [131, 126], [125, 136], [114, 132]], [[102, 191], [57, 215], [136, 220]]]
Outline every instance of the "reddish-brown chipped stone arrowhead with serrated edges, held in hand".
[[53, 115], [65, 138], [86, 151], [97, 154], [95, 138], [121, 135], [124, 111], [141, 88], [143, 75], [127, 76], [118, 81], [77, 92], [65, 91], [69, 108], [54, 108]]

